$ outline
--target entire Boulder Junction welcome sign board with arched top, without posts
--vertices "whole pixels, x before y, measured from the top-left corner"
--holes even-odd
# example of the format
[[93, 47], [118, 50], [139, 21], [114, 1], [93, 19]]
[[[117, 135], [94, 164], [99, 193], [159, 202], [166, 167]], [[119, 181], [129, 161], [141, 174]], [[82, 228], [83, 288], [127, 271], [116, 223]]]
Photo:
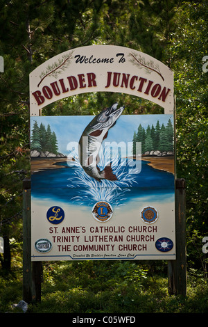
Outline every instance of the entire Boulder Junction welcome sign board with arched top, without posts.
[[[40, 116], [47, 104], [114, 92], [96, 116]], [[121, 93], [164, 108], [122, 114]], [[174, 260], [173, 72], [124, 47], [51, 58], [30, 75], [32, 260]]]

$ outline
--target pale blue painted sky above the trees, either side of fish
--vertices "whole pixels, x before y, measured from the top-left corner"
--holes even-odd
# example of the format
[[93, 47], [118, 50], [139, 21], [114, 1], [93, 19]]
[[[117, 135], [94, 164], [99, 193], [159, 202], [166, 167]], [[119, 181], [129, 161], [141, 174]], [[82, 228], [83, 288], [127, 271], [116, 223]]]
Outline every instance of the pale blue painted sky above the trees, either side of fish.
[[[51, 131], [54, 131], [58, 139], [58, 149], [62, 154], [69, 154], [67, 146], [69, 143], [77, 142], [83, 133], [85, 127], [94, 118], [94, 116], [74, 115], [74, 116], [38, 116], [31, 117], [31, 132], [35, 120], [40, 126], [41, 122], [47, 128], [51, 126]], [[150, 125], [156, 125], [157, 120], [159, 124], [166, 126], [168, 120], [171, 119], [173, 124], [173, 115], [121, 115], [116, 122], [116, 125], [109, 130], [105, 141], [116, 143], [132, 142], [134, 131], [137, 131], [139, 124], [145, 129]]]

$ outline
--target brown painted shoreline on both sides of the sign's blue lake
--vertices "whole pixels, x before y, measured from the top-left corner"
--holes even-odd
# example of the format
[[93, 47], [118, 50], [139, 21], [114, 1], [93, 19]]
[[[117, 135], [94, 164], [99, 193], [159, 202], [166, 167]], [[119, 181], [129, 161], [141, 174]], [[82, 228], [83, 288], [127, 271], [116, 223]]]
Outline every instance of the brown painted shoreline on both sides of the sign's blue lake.
[[[60, 165], [61, 162], [65, 163], [67, 158], [31, 158], [31, 173], [37, 173], [41, 170], [67, 168], [67, 166]], [[148, 162], [148, 166], [155, 169], [164, 170], [168, 173], [174, 174], [174, 157], [153, 157], [153, 156], [142, 156], [141, 159]], [[59, 163], [56, 165], [56, 163]]]

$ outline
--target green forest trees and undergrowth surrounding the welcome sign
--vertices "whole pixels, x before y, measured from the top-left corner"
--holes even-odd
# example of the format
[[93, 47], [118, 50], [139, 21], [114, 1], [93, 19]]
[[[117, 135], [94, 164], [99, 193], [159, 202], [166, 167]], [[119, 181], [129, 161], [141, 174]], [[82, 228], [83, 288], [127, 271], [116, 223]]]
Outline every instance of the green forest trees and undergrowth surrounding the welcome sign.
[[[24, 178], [31, 176], [28, 77], [35, 67], [49, 58], [85, 45], [130, 47], [157, 58], [174, 72], [176, 170], [177, 178], [184, 178], [187, 184], [187, 273], [188, 278], [192, 278], [192, 286], [196, 286], [197, 280], [197, 285], [203, 285], [203, 294], [207, 292], [205, 292], [207, 255], [206, 251], [202, 251], [204, 245], [202, 239], [208, 237], [208, 64], [206, 63], [208, 61], [208, 10], [206, 2], [205, 0], [196, 3], [180, 0], [0, 0], [0, 55], [4, 60], [4, 72], [0, 72], [0, 237], [4, 240], [4, 253], [0, 254], [2, 278], [0, 312], [8, 310], [8, 303], [21, 299], [19, 285], [22, 277], [22, 182]], [[108, 100], [109, 97], [114, 101], [113, 93], [108, 95]], [[129, 95], [121, 95], [122, 97], [123, 102], [128, 104], [127, 114], [163, 113], [162, 108], [144, 99], [138, 97], [136, 99]], [[101, 110], [99, 108], [101, 102], [104, 107], [105, 93], [87, 93], [87, 97], [86, 95], [68, 97], [46, 106], [42, 115], [94, 115]], [[67, 271], [64, 278], [69, 276], [72, 278], [72, 271], [80, 274], [80, 278], [81, 276], [84, 278], [84, 275], [88, 276], [89, 280], [97, 278], [96, 285], [93, 284], [94, 297], [89, 296], [86, 289], [86, 292], [81, 291], [82, 287], [83, 289], [91, 287], [92, 292], [92, 285], [89, 287], [88, 283], [86, 284], [88, 286], [81, 286], [78, 277], [73, 280], [71, 293], [67, 298], [68, 300], [71, 298], [70, 301], [76, 303], [71, 306], [69, 301], [74, 312], [80, 310], [91, 312], [87, 296], [94, 298], [92, 307], [96, 306], [97, 312], [99, 310], [141, 312], [143, 309], [130, 298], [132, 288], [127, 292], [126, 287], [137, 285], [137, 295], [139, 292], [141, 296], [142, 278], [150, 276], [151, 273], [154, 276], [157, 273], [166, 275], [164, 262], [77, 262], [68, 263], [67, 266], [61, 263], [60, 266], [44, 264], [45, 285], [55, 287], [55, 276], [60, 277], [60, 271], [62, 273]], [[113, 280], [113, 276], [117, 278], [114, 287], [111, 285], [112, 292], [108, 295], [101, 292], [101, 280], [98, 278], [101, 271], [105, 271], [103, 280], [108, 283]], [[18, 285], [15, 284], [17, 280], [19, 280]], [[124, 280], [125, 284], [123, 284]], [[69, 280], [67, 282], [69, 287]], [[8, 285], [17, 286], [17, 289], [14, 291], [13, 288], [6, 293]], [[110, 284], [107, 285], [109, 288]], [[119, 289], [118, 285], [123, 285], [122, 289], [125, 289], [125, 292]], [[151, 294], [154, 293], [154, 289], [155, 280]], [[51, 289], [49, 291], [48, 288], [46, 293], [50, 292]], [[55, 292], [54, 288], [53, 292]], [[67, 291], [62, 289], [60, 292], [66, 295], [64, 292]], [[208, 296], [208, 293], [206, 294]], [[106, 308], [105, 296], [107, 298], [116, 296], [112, 303], [114, 305], [117, 303], [120, 309]], [[158, 296], [157, 294], [157, 300]], [[119, 305], [121, 298], [123, 302], [121, 301]], [[199, 308], [198, 303], [198, 309], [196, 305], [193, 306], [193, 312], [194, 310], [208, 312], [207, 305], [204, 305], [207, 300], [203, 296], [202, 298], [203, 305], [200, 303]], [[116, 302], [115, 299], [119, 300]], [[157, 301], [157, 310], [160, 310], [161, 306], [160, 298]], [[171, 308], [177, 311], [179, 306], [182, 308], [181, 302], [180, 305], [177, 303], [177, 309], [176, 306], [175, 309]], [[40, 312], [41, 308], [38, 310]], [[147, 306], [146, 310], [153, 310], [153, 308]], [[162, 312], [165, 310], [167, 307]]]

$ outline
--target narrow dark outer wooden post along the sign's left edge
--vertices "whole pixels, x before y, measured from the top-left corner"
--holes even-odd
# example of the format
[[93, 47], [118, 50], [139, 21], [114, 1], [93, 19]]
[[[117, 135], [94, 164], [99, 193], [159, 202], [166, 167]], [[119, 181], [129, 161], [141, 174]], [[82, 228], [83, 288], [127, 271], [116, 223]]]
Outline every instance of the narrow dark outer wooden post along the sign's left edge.
[[23, 181], [23, 300], [32, 300], [31, 180]]

